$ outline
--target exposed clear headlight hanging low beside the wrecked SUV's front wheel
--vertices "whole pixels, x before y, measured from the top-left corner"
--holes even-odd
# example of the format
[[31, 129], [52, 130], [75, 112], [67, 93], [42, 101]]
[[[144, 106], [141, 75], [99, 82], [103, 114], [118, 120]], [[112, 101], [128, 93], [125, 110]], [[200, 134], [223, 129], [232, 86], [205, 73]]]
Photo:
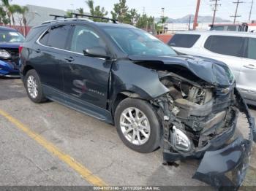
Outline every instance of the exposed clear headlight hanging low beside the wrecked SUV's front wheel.
[[187, 135], [173, 125], [172, 142], [173, 146], [184, 152], [189, 152], [191, 149], [191, 142]]

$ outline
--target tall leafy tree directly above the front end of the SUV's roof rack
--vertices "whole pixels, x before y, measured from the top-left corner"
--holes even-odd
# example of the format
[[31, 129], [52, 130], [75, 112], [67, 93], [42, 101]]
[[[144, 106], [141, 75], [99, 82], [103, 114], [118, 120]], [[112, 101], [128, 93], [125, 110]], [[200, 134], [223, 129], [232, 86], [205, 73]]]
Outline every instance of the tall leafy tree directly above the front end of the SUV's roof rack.
[[120, 23], [131, 23], [128, 10], [127, 1], [119, 0], [118, 3], [114, 4], [113, 11], [111, 11], [112, 18]]

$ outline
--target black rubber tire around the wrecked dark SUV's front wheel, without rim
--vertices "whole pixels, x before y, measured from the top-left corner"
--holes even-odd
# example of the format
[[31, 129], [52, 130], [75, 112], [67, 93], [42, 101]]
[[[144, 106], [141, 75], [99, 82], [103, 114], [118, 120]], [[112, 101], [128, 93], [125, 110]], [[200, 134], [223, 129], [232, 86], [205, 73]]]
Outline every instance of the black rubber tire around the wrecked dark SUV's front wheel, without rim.
[[[132, 144], [128, 139], [124, 136], [121, 130], [121, 114], [125, 111], [125, 109], [132, 107], [140, 109], [143, 114], [148, 118], [148, 122], [150, 125], [150, 135], [148, 140], [144, 144]], [[148, 153], [153, 152], [155, 149], [159, 147], [160, 144], [160, 123], [159, 117], [157, 117], [157, 112], [151, 104], [148, 104], [147, 101], [143, 101], [135, 98], [126, 98], [121, 101], [116, 107], [115, 111], [115, 125], [118, 132], [118, 136], [121, 141], [129, 147], [137, 152]]]

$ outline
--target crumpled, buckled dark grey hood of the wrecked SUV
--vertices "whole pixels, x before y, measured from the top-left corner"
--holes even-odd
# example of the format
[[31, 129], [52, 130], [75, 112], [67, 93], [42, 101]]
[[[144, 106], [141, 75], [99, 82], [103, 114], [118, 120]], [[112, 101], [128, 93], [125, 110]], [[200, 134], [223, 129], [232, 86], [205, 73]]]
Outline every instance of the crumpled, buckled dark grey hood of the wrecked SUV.
[[[129, 55], [128, 58], [132, 61], [144, 61], [157, 69], [157, 64], [164, 64], [167, 69], [173, 66], [181, 66], [191, 71], [195, 76], [203, 79], [212, 85], [228, 87], [234, 82], [232, 71], [225, 63], [216, 61], [211, 58], [204, 58], [190, 55], [176, 55], [176, 56], [148, 56], [148, 55]], [[145, 65], [144, 65], [145, 66]], [[161, 66], [159, 65], [159, 69]]]

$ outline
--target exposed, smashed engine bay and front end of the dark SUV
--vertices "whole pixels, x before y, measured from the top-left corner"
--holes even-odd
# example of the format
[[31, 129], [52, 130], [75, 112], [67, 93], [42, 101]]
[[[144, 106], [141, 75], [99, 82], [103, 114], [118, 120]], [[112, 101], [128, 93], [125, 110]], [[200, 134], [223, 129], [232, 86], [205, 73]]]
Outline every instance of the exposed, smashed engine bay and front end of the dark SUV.
[[158, 74], [169, 92], [157, 98], [154, 104], [161, 108], [159, 115], [163, 120], [170, 123], [164, 130], [170, 151], [196, 151], [230, 130], [230, 123], [238, 114], [233, 106], [233, 88], [214, 87], [201, 80], [190, 81], [168, 71], [158, 71]]

